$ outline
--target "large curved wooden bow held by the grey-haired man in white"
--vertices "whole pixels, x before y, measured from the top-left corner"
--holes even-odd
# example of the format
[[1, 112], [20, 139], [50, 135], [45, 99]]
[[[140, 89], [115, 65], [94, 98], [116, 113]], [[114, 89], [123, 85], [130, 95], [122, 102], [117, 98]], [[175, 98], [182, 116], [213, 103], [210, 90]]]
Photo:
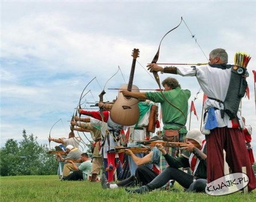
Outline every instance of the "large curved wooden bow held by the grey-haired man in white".
[[[160, 52], [160, 45], [161, 45], [161, 43], [162, 43], [164, 37], [165, 37], [168, 33], [170, 33], [171, 31], [174, 31], [177, 27], [179, 27], [182, 21], [183, 21], [183, 18], [181, 17], [180, 23], [179, 23], [176, 27], [174, 27], [174, 28], [172, 28], [170, 31], [168, 31], [168, 32], [162, 37], [162, 39], [161, 39], [161, 41], [160, 41], [160, 44], [159, 44], [159, 47], [158, 47], [158, 51], [156, 52], [155, 57], [153, 58], [153, 60], [152, 60], [151, 63], [155, 63], [155, 64], [156, 64], [156, 62], [158, 61], [159, 52]], [[152, 73], [153, 73], [153, 75], [154, 75], [154, 77], [155, 77], [156, 83], [158, 83], [159, 89], [161, 89], [160, 79], [159, 79], [159, 75], [158, 75], [157, 71], [153, 71]], [[166, 100], [166, 102], [167, 102], [168, 104], [170, 104], [172, 107], [174, 107], [174, 108], [176, 108], [177, 110], [179, 110], [179, 111], [182, 113], [182, 115], [184, 116], [185, 121], [187, 121], [187, 117], [185, 116], [185, 114], [183, 113], [183, 111], [181, 111], [180, 108], [178, 108], [178, 107], [176, 107], [174, 104], [172, 104], [172, 103], [166, 98], [166, 96], [163, 94], [162, 91], [160, 91], [160, 92], [161, 92], [163, 98]]]

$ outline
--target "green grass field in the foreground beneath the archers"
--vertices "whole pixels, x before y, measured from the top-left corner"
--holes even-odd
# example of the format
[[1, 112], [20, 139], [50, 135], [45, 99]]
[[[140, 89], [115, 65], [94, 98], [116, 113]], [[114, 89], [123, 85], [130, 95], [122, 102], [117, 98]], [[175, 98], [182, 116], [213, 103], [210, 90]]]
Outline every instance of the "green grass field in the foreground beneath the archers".
[[57, 175], [0, 177], [1, 201], [186, 201], [223, 202], [256, 201], [256, 191], [245, 195], [209, 196], [206, 193], [186, 193], [175, 183], [177, 192], [155, 190], [143, 195], [129, 194], [123, 188], [103, 190], [100, 183], [60, 181]]

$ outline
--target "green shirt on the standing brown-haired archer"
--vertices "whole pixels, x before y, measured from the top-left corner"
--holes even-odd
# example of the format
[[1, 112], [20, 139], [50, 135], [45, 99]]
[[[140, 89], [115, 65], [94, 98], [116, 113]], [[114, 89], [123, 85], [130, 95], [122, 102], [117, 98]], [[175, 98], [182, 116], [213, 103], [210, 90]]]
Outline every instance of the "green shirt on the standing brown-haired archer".
[[[174, 104], [175, 107], [171, 106], [167, 100]], [[162, 120], [163, 120], [163, 129], [178, 129], [179, 125], [185, 125], [187, 121], [188, 115], [188, 99], [191, 96], [191, 92], [189, 90], [180, 89], [180, 87], [176, 87], [176, 89], [168, 90], [168, 91], [156, 91], [156, 92], [146, 92], [146, 97], [153, 102], [160, 103], [162, 108]], [[181, 111], [183, 113], [181, 113]], [[185, 115], [185, 117], [184, 117]], [[180, 131], [181, 132], [181, 131]]]

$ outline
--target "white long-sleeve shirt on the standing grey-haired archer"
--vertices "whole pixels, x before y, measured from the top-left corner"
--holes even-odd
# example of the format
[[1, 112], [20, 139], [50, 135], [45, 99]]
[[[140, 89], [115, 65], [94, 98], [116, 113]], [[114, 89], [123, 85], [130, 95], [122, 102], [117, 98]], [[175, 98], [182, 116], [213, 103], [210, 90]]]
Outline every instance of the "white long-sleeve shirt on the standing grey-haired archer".
[[[225, 65], [224, 65], [225, 66]], [[209, 98], [214, 98], [224, 102], [226, 94], [229, 88], [229, 82], [231, 77], [231, 68], [221, 69], [215, 68], [210, 65], [200, 65], [200, 66], [181, 66], [177, 68], [177, 74], [192, 77], [195, 76], [201, 89]], [[216, 120], [218, 127], [228, 127], [233, 128], [234, 122], [230, 120], [230, 117], [225, 113], [224, 118], [221, 117], [220, 110], [224, 110], [224, 104], [222, 102], [217, 102], [213, 99], [206, 99], [204, 103], [204, 110], [208, 110], [210, 107], [217, 108], [215, 110]], [[242, 122], [240, 113], [237, 113], [237, 117], [240, 123], [240, 126], [243, 128], [244, 124]], [[205, 117], [204, 123], [206, 123], [208, 116]], [[205, 134], [209, 134], [208, 130], [203, 130]]]

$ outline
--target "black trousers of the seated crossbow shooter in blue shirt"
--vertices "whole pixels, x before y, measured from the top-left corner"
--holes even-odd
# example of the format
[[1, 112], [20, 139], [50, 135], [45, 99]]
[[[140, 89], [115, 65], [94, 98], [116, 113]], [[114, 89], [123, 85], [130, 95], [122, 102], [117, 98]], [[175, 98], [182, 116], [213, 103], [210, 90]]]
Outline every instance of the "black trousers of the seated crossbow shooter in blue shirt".
[[135, 176], [131, 175], [130, 178], [118, 182], [117, 185], [118, 187], [143, 186], [150, 183], [156, 176], [158, 176], [158, 174], [142, 165], [137, 167]]

